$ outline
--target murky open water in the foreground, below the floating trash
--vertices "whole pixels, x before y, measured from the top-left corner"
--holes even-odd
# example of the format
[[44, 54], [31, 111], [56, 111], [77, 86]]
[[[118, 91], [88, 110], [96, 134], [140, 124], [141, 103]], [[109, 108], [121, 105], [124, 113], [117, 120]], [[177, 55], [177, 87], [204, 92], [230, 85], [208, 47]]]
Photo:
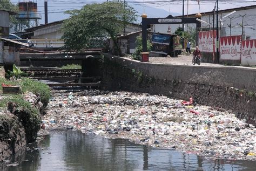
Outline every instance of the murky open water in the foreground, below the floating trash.
[[[255, 161], [207, 160], [194, 154], [105, 139], [79, 131], [51, 132], [4, 170], [255, 170]], [[36, 149], [35, 149], [36, 148]]]

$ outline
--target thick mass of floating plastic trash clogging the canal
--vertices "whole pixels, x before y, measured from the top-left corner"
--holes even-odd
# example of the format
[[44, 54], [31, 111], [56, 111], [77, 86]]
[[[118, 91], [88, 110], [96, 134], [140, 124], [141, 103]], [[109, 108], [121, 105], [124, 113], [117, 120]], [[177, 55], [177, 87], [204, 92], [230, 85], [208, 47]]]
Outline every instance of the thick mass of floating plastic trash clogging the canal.
[[44, 128], [80, 130], [209, 158], [256, 160], [256, 128], [232, 111], [147, 93], [53, 92]]

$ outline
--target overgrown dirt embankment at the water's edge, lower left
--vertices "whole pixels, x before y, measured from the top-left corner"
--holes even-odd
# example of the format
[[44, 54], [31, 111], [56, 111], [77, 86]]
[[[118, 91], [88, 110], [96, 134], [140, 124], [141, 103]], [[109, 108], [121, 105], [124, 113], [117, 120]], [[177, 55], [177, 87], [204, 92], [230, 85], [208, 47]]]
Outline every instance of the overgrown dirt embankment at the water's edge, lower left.
[[15, 155], [26, 143], [36, 139], [42, 107], [39, 97], [25, 93], [23, 101], [14, 98], [8, 103], [8, 108], [0, 112], [0, 161]]

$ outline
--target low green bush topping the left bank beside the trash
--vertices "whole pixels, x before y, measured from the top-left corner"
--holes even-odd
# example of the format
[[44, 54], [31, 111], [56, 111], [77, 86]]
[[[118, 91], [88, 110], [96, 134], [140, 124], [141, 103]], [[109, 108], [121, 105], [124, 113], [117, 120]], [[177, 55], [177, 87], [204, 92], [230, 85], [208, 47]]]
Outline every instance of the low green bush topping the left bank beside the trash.
[[43, 106], [47, 106], [51, 97], [51, 91], [48, 85], [30, 78], [22, 78], [19, 85], [21, 86], [22, 92], [32, 92], [33, 94], [40, 95]]

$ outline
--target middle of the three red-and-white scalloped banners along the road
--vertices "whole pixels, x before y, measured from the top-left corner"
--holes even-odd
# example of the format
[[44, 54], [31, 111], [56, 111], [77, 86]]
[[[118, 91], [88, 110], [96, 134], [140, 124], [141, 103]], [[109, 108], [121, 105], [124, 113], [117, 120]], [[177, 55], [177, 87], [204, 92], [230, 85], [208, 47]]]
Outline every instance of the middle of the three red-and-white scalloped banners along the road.
[[220, 59], [241, 60], [241, 36], [220, 37]]

